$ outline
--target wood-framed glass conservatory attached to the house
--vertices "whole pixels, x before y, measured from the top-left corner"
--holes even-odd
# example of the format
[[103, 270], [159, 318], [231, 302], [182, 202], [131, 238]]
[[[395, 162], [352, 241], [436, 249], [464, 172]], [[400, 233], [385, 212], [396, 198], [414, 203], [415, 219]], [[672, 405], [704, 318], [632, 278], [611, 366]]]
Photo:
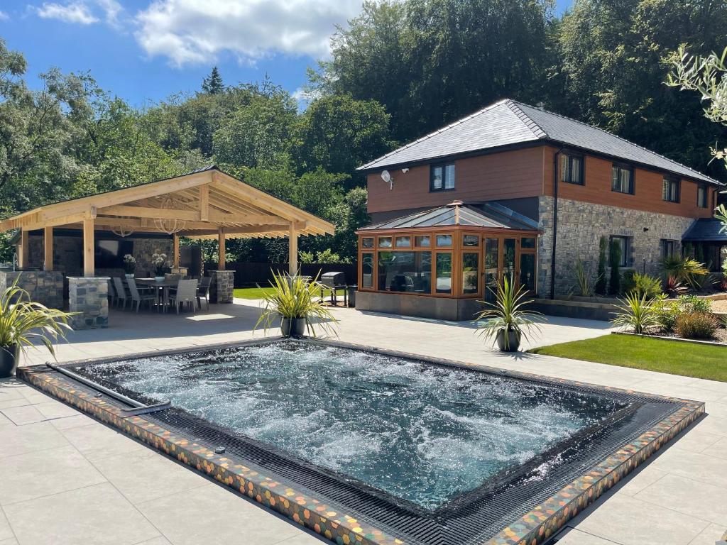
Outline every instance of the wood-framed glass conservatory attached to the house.
[[360, 310], [468, 320], [505, 275], [536, 291], [537, 222], [498, 203], [462, 203], [358, 230]]

